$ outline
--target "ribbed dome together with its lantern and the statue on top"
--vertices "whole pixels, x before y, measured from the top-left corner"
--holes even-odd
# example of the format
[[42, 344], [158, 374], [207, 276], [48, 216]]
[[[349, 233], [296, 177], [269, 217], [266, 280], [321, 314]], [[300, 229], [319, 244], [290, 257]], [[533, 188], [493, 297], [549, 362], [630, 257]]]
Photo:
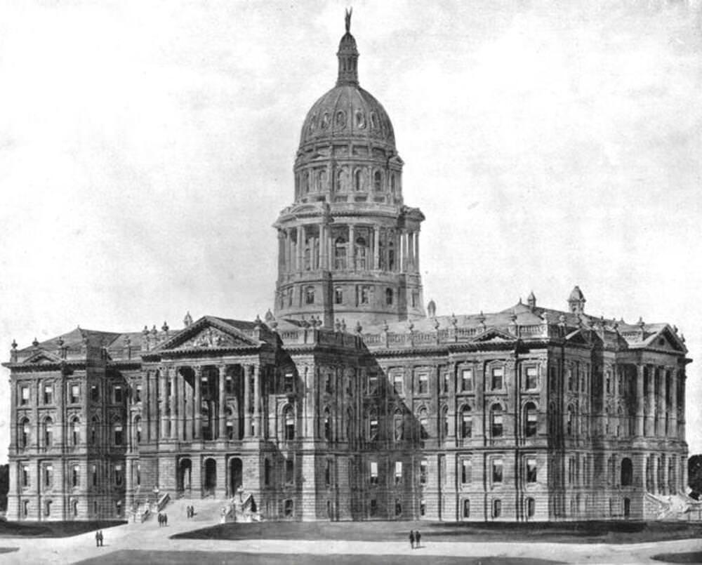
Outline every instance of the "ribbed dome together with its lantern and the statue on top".
[[307, 112], [300, 134], [300, 149], [309, 144], [335, 140], [362, 140], [395, 149], [395, 133], [385, 108], [373, 95], [358, 86], [358, 50], [349, 31], [351, 13], [346, 14], [346, 33], [336, 56], [339, 74], [336, 86]]

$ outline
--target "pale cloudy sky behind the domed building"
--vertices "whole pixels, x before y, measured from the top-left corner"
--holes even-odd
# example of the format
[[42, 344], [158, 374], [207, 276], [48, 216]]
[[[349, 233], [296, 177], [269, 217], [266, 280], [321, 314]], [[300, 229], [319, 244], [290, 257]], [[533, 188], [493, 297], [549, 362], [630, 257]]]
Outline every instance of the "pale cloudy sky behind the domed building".
[[[701, 0], [354, 3], [420, 207], [425, 299], [668, 321], [702, 451]], [[565, 6], [567, 4], [567, 6]], [[271, 224], [343, 1], [0, 0], [0, 358], [83, 328], [263, 317]], [[8, 375], [5, 369], [1, 375]], [[0, 379], [0, 460], [8, 382]]]

